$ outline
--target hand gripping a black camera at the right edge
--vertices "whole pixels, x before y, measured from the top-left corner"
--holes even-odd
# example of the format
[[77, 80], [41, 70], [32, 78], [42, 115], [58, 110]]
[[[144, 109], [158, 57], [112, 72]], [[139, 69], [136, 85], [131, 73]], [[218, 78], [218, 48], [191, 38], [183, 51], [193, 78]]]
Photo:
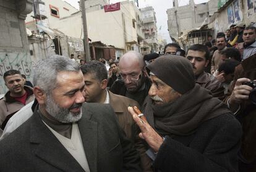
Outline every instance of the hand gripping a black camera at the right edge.
[[229, 105], [241, 104], [244, 100], [249, 99], [250, 91], [252, 88], [250, 86], [244, 85], [243, 83], [249, 82], [248, 78], [239, 78], [236, 81], [234, 90], [229, 99]]

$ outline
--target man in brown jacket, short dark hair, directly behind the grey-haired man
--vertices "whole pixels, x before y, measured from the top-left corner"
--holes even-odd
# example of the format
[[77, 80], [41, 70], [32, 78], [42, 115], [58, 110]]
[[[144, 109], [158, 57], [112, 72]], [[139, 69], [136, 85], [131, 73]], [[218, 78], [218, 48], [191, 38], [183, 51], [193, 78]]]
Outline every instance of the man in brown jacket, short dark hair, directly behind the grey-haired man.
[[140, 154], [143, 171], [151, 171], [151, 160], [145, 154], [146, 148], [139, 137], [140, 129], [130, 116], [127, 107], [140, 105], [135, 100], [128, 97], [113, 94], [106, 89], [108, 84], [108, 74], [103, 63], [91, 61], [81, 67], [85, 80], [85, 102], [97, 102], [110, 104], [116, 113], [119, 125], [126, 133], [126, 136]]

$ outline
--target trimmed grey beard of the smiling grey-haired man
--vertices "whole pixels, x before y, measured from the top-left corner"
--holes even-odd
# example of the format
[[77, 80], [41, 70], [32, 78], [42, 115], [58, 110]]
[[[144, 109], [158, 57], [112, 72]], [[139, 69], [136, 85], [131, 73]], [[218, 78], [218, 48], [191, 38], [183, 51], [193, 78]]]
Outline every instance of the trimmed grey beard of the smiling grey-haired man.
[[69, 109], [59, 107], [51, 96], [46, 96], [46, 112], [61, 123], [74, 123], [82, 118], [82, 109], [80, 113], [71, 113]]

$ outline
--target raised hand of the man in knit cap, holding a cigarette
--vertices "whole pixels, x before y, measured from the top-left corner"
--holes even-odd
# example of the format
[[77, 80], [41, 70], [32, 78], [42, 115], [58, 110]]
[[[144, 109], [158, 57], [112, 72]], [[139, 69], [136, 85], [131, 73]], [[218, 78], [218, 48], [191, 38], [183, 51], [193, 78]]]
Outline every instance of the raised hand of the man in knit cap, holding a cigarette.
[[161, 144], [163, 144], [163, 138], [148, 124], [145, 117], [139, 117], [132, 107], [128, 107], [128, 111], [142, 131], [142, 133], [139, 134], [139, 137], [145, 139], [148, 145], [150, 145], [155, 152], [158, 152]]

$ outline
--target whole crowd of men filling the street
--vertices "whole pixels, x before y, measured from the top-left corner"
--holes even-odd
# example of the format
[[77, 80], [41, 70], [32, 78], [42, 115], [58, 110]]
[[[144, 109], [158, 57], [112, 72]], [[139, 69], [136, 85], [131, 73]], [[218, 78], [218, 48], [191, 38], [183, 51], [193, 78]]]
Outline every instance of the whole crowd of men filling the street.
[[187, 51], [53, 55], [29, 86], [7, 71], [0, 171], [256, 171], [255, 39], [240, 23]]

